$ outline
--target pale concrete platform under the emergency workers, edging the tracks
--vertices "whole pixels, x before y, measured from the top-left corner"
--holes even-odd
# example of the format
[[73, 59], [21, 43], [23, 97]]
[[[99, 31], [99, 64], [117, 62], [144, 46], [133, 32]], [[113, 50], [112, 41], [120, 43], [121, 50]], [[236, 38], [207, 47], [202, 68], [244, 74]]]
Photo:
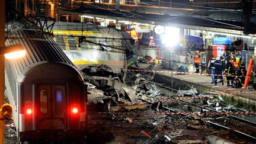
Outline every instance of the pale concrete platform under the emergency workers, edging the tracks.
[[[148, 64], [146, 63], [139, 63], [140, 69], [145, 69], [147, 66]], [[161, 78], [161, 81], [159, 81], [159, 83], [171, 84], [171, 71], [168, 71], [167, 69], [161, 69], [159, 65], [155, 65], [153, 69], [154, 71], [164, 71], [164, 72], [155, 72], [156, 81], [158, 81], [158, 79], [160, 79], [161, 76], [162, 77], [164, 76], [164, 78]], [[190, 71], [190, 72], [194, 72], [194, 71]], [[218, 83], [217, 85], [211, 84], [212, 82], [211, 76], [197, 75], [197, 73], [186, 74], [186, 75], [177, 75], [177, 73], [172, 73], [172, 78], [173, 78], [173, 85], [175, 89], [177, 89], [177, 87], [180, 87], [180, 89], [184, 89], [185, 85], [188, 84], [191, 86], [193, 85], [193, 87], [197, 88], [197, 90], [199, 90], [200, 92], [202, 91], [220, 92], [222, 95], [234, 97], [235, 99], [240, 98], [244, 101], [250, 101], [251, 103], [256, 104], [256, 91], [253, 89], [227, 87], [226, 83], [224, 85], [222, 85], [221, 83]]]

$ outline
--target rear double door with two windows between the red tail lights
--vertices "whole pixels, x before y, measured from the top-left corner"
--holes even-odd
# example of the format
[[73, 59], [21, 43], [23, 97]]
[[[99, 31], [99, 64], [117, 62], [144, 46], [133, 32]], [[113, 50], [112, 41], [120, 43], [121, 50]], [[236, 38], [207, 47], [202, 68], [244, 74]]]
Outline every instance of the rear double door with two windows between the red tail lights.
[[39, 85], [39, 129], [66, 129], [66, 86]]

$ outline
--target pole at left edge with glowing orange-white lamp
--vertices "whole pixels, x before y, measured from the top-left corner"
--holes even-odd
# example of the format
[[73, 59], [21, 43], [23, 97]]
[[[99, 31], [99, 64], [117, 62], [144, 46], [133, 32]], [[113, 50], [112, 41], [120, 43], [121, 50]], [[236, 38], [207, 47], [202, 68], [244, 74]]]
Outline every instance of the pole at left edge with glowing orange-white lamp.
[[[23, 54], [17, 53], [17, 51], [23, 50]], [[15, 52], [18, 57], [25, 55], [25, 50], [20, 45], [5, 47], [5, 0], [0, 5], [0, 107], [4, 104], [4, 90], [5, 90], [5, 56], [8, 58], [14, 58], [12, 55], [6, 55], [7, 53]], [[17, 58], [17, 57], [16, 57]], [[0, 120], [0, 144], [4, 143], [4, 120]]]

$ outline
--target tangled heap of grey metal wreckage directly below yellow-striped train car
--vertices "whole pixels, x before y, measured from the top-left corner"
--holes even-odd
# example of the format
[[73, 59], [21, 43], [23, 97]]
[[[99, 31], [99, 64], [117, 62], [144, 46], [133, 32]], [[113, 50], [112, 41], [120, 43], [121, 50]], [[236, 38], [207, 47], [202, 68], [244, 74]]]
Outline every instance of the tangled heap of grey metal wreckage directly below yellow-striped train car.
[[[149, 66], [148, 70], [152, 71], [152, 66]], [[82, 76], [87, 81], [88, 92], [102, 91], [100, 97], [98, 94], [93, 98], [98, 97], [100, 103], [107, 105], [106, 112], [108, 113], [120, 109], [143, 109], [146, 108], [146, 103], [159, 100], [161, 93], [156, 89], [155, 83], [149, 81], [153, 75], [153, 72], [129, 71], [124, 76], [120, 70], [112, 70], [105, 65], [98, 68], [82, 69]]]

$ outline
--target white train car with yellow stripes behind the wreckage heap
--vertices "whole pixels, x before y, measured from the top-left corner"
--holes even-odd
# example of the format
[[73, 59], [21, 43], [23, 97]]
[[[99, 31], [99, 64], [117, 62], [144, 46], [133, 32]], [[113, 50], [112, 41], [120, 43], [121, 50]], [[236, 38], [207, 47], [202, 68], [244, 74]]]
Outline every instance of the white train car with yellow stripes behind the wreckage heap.
[[[52, 22], [47, 22], [49, 25]], [[135, 40], [125, 31], [100, 25], [56, 22], [54, 40], [78, 67], [123, 68], [133, 65], [138, 56]]]

